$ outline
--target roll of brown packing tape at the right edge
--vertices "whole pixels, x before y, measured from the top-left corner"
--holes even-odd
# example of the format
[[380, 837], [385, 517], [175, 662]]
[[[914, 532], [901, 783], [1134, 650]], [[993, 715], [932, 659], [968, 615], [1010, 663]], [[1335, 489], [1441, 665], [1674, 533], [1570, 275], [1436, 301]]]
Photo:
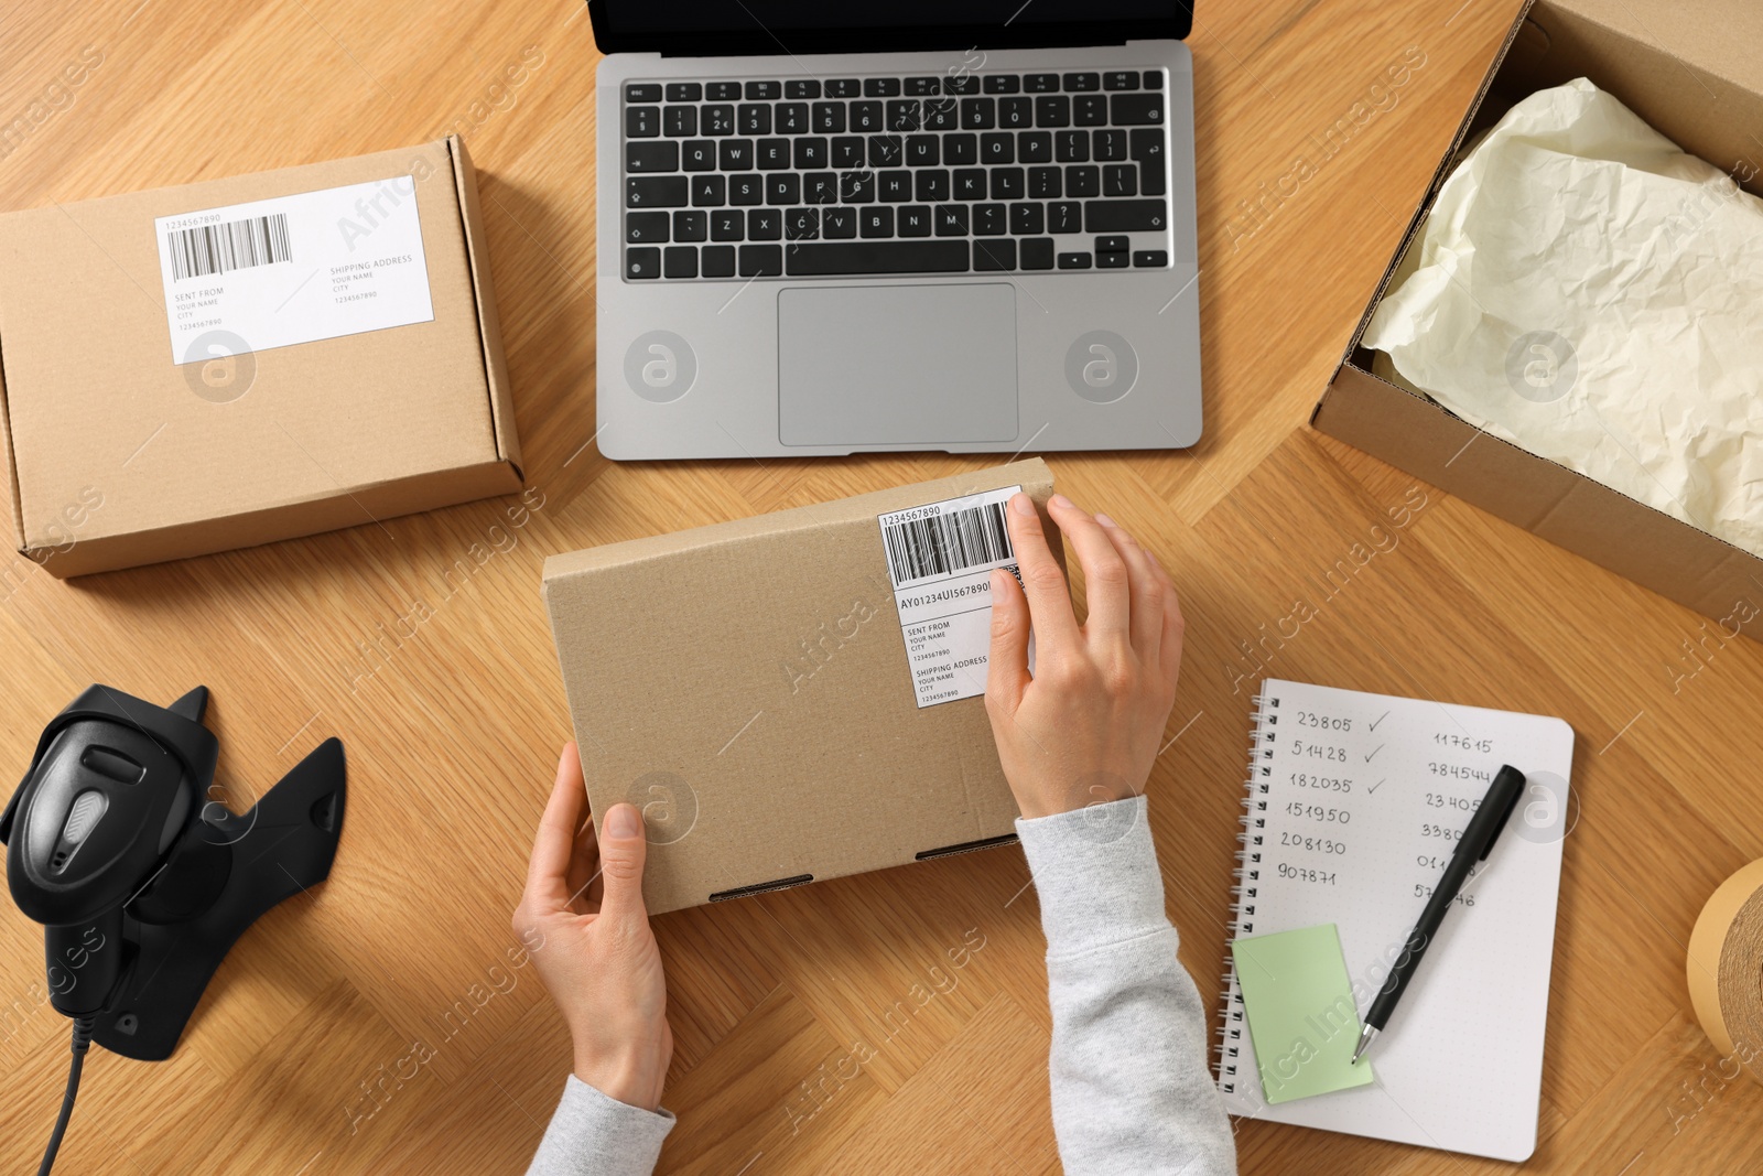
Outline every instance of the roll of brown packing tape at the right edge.
[[1689, 1000], [1714, 1047], [1763, 1083], [1763, 859], [1701, 908], [1689, 936]]

